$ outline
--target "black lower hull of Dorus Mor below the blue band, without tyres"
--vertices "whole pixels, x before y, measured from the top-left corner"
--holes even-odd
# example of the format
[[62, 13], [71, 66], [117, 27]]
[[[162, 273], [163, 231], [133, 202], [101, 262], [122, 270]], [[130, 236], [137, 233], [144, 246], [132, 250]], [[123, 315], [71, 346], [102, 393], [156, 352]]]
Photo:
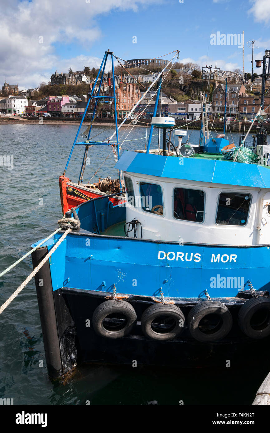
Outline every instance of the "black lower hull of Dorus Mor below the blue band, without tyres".
[[[36, 265], [46, 255], [47, 248], [33, 253]], [[155, 296], [117, 294], [129, 302], [137, 313], [137, 324], [130, 333], [120, 339], [98, 336], [91, 326], [93, 312], [102, 302], [112, 298], [107, 291], [93, 291], [61, 287], [52, 291], [50, 266], [43, 268], [36, 277], [36, 291], [50, 378], [58, 378], [83, 363], [115, 363], [133, 365], [161, 365], [181, 368], [224, 367], [254, 365], [254, 362], [270, 362], [270, 338], [254, 340], [245, 336], [237, 326], [237, 315], [243, 298], [230, 298], [227, 305], [233, 317], [233, 327], [221, 341], [200, 343], [186, 326], [179, 338], [171, 341], [153, 341], [143, 335], [140, 319], [147, 307], [158, 301]], [[40, 287], [40, 278], [44, 285]], [[250, 295], [247, 294], [247, 297]], [[44, 299], [46, 301], [44, 302]], [[165, 298], [166, 299], [166, 298]], [[218, 299], [224, 301], [224, 299]], [[185, 317], [195, 304], [195, 299], [174, 298]], [[90, 320], [90, 326], [86, 323]]]

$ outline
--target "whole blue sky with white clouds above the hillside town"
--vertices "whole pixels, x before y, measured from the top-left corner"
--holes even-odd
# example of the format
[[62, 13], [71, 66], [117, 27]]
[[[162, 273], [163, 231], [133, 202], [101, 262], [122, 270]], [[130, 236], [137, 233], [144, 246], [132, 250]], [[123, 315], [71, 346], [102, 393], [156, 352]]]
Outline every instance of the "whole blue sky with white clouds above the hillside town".
[[[237, 45], [211, 45], [211, 34], [244, 30], [245, 70], [270, 47], [270, 0], [38, 0], [0, 1], [0, 85], [49, 81], [55, 71], [98, 66], [110, 48], [121, 58], [180, 50], [180, 60], [221, 69], [242, 68]], [[133, 36], [137, 43], [133, 43]], [[40, 42], [42, 38], [42, 42]], [[171, 55], [166, 58], [171, 58]], [[3, 84], [2, 84], [3, 85]]]

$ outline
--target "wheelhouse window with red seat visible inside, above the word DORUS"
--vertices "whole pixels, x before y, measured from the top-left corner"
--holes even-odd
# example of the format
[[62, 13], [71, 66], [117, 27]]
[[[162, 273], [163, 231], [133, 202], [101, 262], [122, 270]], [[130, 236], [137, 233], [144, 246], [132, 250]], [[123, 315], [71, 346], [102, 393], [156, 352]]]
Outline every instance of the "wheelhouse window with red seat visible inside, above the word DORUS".
[[173, 216], [177, 220], [202, 223], [204, 220], [204, 209], [204, 191], [187, 188], [174, 188]]

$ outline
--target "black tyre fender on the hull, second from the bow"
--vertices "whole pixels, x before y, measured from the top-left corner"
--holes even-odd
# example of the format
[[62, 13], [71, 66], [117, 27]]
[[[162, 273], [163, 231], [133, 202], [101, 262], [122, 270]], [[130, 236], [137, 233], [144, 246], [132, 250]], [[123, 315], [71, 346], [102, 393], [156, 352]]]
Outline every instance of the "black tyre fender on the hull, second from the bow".
[[154, 304], [143, 312], [141, 326], [146, 337], [168, 341], [182, 333], [185, 316], [174, 304]]

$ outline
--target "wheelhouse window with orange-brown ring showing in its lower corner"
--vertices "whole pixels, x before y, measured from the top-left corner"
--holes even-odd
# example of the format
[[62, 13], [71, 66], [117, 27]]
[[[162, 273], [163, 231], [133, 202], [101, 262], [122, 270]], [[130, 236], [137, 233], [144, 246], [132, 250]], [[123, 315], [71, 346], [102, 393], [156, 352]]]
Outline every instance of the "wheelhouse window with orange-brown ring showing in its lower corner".
[[156, 215], [163, 215], [163, 197], [160, 185], [140, 182], [142, 209]]

